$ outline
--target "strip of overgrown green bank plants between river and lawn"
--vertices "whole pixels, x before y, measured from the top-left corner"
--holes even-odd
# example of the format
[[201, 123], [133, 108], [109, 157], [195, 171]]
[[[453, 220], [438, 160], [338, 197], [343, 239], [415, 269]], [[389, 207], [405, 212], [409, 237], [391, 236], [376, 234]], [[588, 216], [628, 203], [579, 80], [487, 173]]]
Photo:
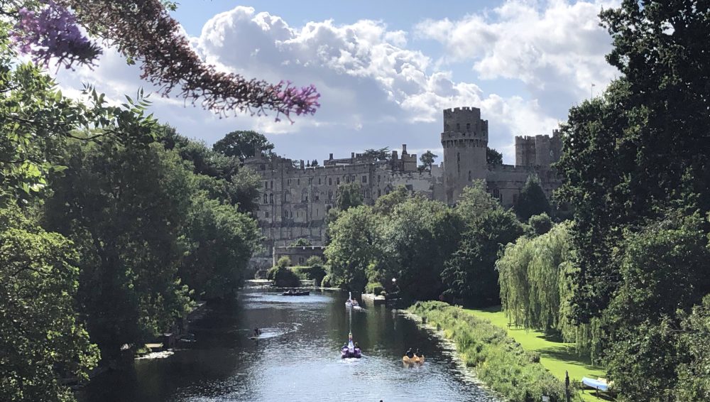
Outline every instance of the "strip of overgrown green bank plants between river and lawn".
[[[486, 386], [513, 402], [564, 401], [564, 384], [501, 328], [459, 307], [441, 302], [417, 302], [409, 309], [452, 339], [466, 366], [473, 367]], [[579, 397], [578, 397], [579, 398]]]

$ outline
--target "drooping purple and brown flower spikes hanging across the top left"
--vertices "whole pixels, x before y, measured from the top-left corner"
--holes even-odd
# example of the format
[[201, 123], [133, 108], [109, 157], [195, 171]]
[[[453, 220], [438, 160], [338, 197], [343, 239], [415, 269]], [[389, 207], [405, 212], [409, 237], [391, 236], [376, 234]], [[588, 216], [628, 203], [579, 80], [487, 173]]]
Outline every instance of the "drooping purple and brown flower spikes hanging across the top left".
[[160, 0], [10, 1], [0, 11], [15, 23], [13, 45], [41, 65], [48, 66], [53, 58], [66, 67], [93, 65], [101, 50], [82, 35], [83, 27], [113, 45], [129, 63], [141, 63], [143, 79], [164, 95], [177, 92], [220, 115], [261, 116], [271, 110], [277, 121], [280, 116], [290, 120], [293, 114], [313, 114], [320, 106], [313, 85], [298, 88], [290, 82], [247, 80], [205, 64]]

